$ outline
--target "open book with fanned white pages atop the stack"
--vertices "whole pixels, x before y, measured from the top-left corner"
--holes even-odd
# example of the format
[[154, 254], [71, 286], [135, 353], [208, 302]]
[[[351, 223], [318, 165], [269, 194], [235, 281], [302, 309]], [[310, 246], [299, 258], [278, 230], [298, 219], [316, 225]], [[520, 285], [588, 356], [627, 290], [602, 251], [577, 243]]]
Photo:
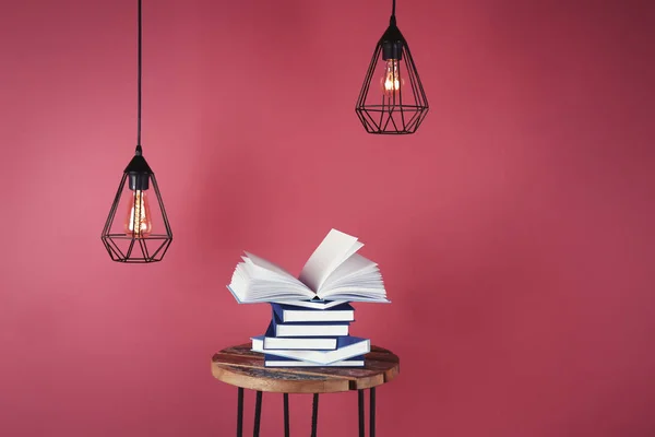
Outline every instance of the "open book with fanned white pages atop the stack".
[[353, 300], [386, 303], [378, 264], [356, 253], [362, 246], [356, 237], [332, 229], [309, 257], [299, 277], [246, 252], [227, 287], [239, 303], [293, 303], [315, 309]]

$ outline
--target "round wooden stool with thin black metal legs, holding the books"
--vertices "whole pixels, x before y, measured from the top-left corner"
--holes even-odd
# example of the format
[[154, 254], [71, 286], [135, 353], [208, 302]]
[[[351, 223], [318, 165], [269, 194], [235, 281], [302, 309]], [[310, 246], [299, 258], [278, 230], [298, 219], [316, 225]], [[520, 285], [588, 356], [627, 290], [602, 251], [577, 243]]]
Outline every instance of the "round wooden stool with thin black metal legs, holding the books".
[[369, 435], [376, 436], [376, 387], [391, 381], [400, 373], [400, 361], [390, 351], [372, 346], [365, 367], [264, 367], [264, 355], [250, 351], [251, 344], [224, 349], [212, 357], [212, 374], [239, 388], [237, 437], [243, 435], [243, 389], [257, 391], [254, 437], [259, 437], [262, 392], [284, 393], [284, 435], [289, 437], [289, 393], [313, 393], [311, 436], [317, 436], [319, 394], [357, 390], [359, 436], [365, 436], [364, 390], [369, 389]]

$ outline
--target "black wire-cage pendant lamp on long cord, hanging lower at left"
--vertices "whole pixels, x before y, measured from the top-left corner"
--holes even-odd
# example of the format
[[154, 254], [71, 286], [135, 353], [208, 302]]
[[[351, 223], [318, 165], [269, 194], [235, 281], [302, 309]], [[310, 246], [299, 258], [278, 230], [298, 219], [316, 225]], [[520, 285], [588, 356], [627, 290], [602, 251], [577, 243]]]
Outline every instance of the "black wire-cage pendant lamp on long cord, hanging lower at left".
[[141, 147], [142, 19], [139, 2], [139, 74], [136, 151], [126, 167], [109, 216], [103, 229], [103, 244], [117, 262], [162, 261], [172, 241], [162, 193], [155, 174]]

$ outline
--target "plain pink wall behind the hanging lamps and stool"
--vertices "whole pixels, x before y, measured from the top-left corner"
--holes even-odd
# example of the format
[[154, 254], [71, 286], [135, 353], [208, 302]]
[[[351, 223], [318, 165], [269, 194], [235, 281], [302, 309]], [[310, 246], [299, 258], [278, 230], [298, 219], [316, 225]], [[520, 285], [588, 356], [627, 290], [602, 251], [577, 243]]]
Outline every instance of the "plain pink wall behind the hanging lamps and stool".
[[[145, 1], [144, 151], [176, 237], [147, 267], [99, 240], [134, 146], [135, 1], [7, 3], [0, 435], [233, 435], [210, 357], [269, 309], [224, 285], [243, 249], [298, 271], [330, 227], [394, 300], [353, 327], [403, 362], [379, 436], [655, 433], [646, 2], [400, 0], [431, 111], [380, 138], [354, 104], [389, 1]], [[356, 436], [356, 395], [319, 421]]]

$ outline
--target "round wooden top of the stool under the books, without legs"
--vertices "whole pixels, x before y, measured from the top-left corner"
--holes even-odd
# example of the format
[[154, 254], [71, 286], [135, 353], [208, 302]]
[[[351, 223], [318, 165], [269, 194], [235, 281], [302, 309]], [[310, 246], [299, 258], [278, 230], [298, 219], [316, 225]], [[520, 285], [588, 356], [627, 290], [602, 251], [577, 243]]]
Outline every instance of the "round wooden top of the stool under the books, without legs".
[[381, 386], [400, 373], [398, 357], [378, 346], [371, 346], [364, 367], [264, 367], [264, 355], [250, 347], [239, 344], [215, 354], [214, 378], [258, 391], [334, 393]]

